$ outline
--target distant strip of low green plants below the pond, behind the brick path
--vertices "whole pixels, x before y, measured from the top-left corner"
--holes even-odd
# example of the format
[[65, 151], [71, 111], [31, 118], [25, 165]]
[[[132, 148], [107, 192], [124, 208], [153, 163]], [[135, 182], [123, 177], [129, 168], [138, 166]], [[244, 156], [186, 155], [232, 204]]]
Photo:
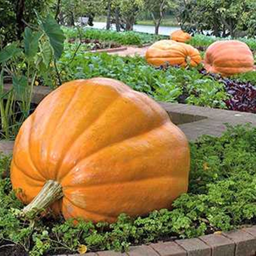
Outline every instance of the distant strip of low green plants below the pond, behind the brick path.
[[143, 45], [153, 43], [160, 39], [165, 39], [167, 36], [156, 36], [147, 33], [134, 31], [116, 32], [114, 30], [104, 30], [95, 28], [84, 28], [81, 30], [81, 35], [77, 28], [62, 27], [67, 38], [82, 38], [98, 39], [100, 41], [112, 41], [122, 45]]

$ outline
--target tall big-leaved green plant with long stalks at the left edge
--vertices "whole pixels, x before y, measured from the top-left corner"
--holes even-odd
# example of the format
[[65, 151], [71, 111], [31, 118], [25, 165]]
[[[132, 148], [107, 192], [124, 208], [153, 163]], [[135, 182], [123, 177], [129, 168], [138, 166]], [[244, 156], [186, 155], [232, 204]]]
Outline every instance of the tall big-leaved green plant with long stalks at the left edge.
[[[38, 21], [35, 31], [25, 28], [22, 43], [8, 44], [0, 52], [0, 111], [2, 135], [6, 139], [17, 134], [30, 114], [36, 78], [41, 76], [49, 82], [50, 63], [59, 59], [63, 51], [64, 35], [56, 21], [51, 16], [44, 20], [39, 15]], [[12, 78], [12, 88], [8, 92], [4, 92], [4, 75]]]

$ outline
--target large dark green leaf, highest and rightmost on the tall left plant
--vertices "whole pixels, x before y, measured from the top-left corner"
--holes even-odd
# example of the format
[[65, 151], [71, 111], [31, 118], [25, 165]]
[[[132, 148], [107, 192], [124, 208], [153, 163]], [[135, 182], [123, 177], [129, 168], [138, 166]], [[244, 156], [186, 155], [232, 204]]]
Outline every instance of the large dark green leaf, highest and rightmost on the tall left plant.
[[46, 20], [42, 21], [42, 27], [45, 34], [50, 39], [50, 44], [52, 46], [54, 56], [58, 60], [64, 48], [64, 33], [60, 29], [60, 25], [50, 15], [47, 16]]

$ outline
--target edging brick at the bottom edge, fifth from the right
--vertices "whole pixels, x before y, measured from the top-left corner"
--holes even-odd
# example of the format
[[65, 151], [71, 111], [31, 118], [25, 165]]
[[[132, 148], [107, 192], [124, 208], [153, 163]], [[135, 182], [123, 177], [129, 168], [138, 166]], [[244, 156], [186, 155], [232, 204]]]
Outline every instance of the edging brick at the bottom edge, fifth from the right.
[[187, 252], [175, 242], [158, 242], [150, 246], [161, 256], [187, 256]]

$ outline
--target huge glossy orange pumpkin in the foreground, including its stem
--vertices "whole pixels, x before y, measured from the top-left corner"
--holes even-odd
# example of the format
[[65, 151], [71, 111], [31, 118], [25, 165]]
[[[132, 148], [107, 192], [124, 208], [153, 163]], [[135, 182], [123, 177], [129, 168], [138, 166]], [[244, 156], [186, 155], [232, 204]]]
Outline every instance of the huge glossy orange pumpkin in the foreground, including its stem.
[[24, 213], [51, 204], [65, 219], [112, 222], [170, 208], [187, 191], [188, 172], [187, 139], [162, 107], [93, 78], [61, 85], [24, 122], [11, 181], [25, 204], [35, 198]]

